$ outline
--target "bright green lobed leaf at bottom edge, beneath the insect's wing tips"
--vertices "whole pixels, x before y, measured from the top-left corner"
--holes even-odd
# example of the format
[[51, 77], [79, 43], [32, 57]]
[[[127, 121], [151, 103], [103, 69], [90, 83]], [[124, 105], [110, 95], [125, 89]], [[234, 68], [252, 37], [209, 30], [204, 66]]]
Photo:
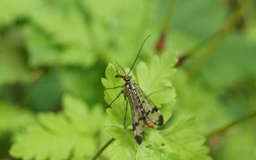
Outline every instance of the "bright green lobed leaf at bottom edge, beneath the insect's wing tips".
[[182, 155], [173, 152], [170, 145], [162, 146], [165, 140], [159, 131], [148, 128], [142, 145], [134, 141], [131, 129], [109, 126], [107, 131], [115, 138], [106, 150], [111, 159], [182, 159]]

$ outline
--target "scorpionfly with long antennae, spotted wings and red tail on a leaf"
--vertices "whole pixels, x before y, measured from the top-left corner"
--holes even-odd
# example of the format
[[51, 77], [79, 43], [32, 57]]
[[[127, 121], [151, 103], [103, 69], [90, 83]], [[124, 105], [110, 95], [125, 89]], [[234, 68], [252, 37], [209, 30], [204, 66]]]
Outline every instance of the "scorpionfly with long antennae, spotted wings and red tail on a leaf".
[[[150, 36], [150, 35], [149, 35]], [[148, 37], [149, 37], [148, 36]], [[147, 38], [148, 38], [147, 37]], [[140, 51], [145, 43], [140, 47]], [[122, 86], [116, 86], [113, 88], [105, 88], [104, 90], [110, 90], [115, 88], [124, 88], [118, 96], [109, 104], [109, 107], [116, 99], [123, 93], [125, 100], [126, 100], [126, 108], [125, 108], [125, 118], [124, 118], [124, 125], [125, 119], [127, 114], [127, 104], [131, 106], [131, 113], [132, 113], [132, 128], [134, 132], [134, 138], [138, 144], [142, 143], [143, 134], [145, 132], [145, 124], [148, 127], [154, 128], [154, 125], [163, 125], [164, 119], [162, 113], [159, 111], [157, 106], [148, 98], [148, 96], [141, 90], [141, 88], [134, 82], [131, 81], [132, 76], [129, 76], [132, 68], [134, 67], [138, 57], [140, 55], [140, 51], [138, 52], [134, 63], [132, 64], [131, 69], [129, 70], [128, 74], [125, 73], [124, 68], [122, 68], [118, 63], [117, 65], [123, 70], [124, 75], [117, 74], [115, 77], [122, 78], [125, 81], [125, 84]], [[128, 99], [128, 100], [127, 100]], [[152, 123], [151, 123], [152, 122]]]

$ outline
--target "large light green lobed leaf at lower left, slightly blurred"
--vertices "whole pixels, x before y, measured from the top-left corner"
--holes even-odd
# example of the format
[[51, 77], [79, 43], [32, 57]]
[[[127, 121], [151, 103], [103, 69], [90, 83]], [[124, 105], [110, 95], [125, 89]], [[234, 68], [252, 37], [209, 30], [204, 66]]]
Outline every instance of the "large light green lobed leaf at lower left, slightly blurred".
[[72, 95], [64, 95], [63, 106], [63, 113], [40, 114], [41, 125], [33, 125], [27, 134], [19, 136], [10, 150], [12, 156], [22, 159], [92, 157], [97, 151], [96, 132], [104, 122], [100, 106], [89, 110], [82, 100]]

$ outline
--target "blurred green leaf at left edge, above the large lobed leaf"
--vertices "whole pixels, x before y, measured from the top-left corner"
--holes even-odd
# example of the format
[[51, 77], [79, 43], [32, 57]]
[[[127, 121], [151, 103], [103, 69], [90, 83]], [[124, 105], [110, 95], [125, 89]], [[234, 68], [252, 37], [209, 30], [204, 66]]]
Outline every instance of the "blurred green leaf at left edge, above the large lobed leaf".
[[35, 122], [35, 116], [30, 111], [7, 102], [0, 102], [0, 132], [24, 129]]

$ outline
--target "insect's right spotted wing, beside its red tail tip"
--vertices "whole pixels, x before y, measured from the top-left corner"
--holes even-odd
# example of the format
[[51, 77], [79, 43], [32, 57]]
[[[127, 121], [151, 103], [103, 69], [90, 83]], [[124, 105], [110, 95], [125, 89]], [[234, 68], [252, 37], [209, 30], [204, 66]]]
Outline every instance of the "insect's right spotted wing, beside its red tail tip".
[[140, 97], [140, 101], [143, 104], [143, 108], [145, 110], [145, 114], [147, 118], [156, 125], [163, 125], [164, 118], [162, 113], [159, 111], [157, 106], [149, 99], [149, 97], [141, 90], [139, 86], [136, 85], [136, 90]]

